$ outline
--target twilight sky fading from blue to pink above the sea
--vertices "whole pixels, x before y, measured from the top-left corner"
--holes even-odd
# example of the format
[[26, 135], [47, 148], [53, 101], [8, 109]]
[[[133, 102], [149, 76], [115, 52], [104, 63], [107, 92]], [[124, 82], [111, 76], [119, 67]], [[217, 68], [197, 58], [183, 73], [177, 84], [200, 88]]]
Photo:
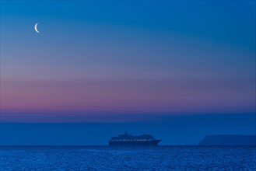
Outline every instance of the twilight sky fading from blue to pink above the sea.
[[95, 134], [112, 123], [106, 137], [149, 130], [164, 144], [254, 134], [255, 1], [1, 1], [0, 98], [3, 144], [16, 129], [29, 143], [33, 125], [47, 140], [31, 143], [54, 145], [50, 123], [55, 144], [64, 123], [77, 124], [66, 144], [79, 145], [81, 123]]

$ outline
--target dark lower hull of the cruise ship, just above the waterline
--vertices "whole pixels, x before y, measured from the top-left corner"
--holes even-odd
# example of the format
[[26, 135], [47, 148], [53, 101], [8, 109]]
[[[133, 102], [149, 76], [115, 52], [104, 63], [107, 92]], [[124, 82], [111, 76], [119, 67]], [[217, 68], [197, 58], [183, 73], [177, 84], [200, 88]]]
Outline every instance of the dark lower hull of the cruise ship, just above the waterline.
[[108, 141], [108, 145], [158, 145], [160, 141]]

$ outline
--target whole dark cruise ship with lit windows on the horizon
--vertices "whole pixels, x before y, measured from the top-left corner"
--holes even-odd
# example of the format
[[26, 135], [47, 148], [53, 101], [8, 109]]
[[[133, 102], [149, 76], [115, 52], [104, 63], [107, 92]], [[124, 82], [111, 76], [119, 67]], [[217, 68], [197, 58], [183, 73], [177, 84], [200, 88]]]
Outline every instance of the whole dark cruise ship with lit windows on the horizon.
[[134, 136], [125, 132], [124, 134], [111, 137], [108, 145], [158, 145], [161, 140], [156, 140], [150, 134]]

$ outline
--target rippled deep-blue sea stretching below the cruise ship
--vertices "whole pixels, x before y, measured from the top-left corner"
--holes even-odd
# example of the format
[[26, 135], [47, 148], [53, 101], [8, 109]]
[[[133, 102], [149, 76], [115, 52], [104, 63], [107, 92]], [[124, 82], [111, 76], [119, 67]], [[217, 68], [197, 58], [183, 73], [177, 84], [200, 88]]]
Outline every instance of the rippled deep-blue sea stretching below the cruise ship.
[[1, 170], [256, 170], [256, 146], [0, 146]]

